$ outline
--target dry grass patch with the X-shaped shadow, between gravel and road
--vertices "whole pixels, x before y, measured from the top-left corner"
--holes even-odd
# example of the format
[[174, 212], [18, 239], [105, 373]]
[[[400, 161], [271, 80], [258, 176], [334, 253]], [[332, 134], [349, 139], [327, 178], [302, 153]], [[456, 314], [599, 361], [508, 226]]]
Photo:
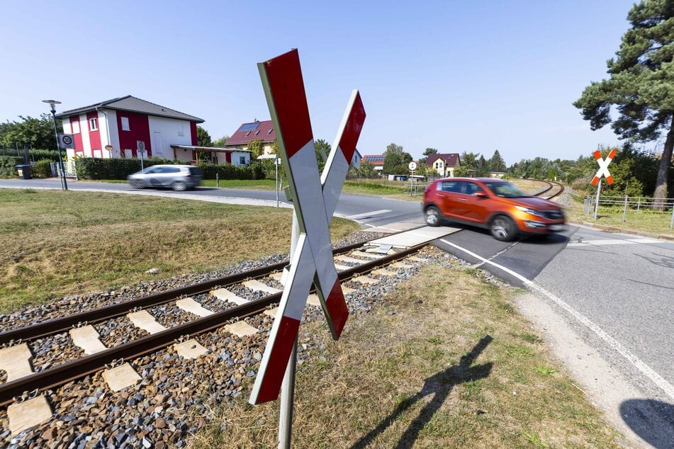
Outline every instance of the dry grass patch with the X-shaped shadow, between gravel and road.
[[[353, 316], [339, 343], [300, 365], [293, 447], [619, 447], [531, 326], [512, 292], [456, 268], [428, 266]], [[242, 395], [244, 396], [244, 395]], [[276, 446], [278, 404], [238, 397], [195, 448]]]

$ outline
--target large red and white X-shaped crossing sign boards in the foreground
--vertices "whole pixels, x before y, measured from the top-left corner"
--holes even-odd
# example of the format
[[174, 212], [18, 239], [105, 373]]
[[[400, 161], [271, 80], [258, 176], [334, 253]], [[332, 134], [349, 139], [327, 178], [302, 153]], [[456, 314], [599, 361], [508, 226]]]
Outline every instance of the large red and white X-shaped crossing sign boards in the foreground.
[[258, 68], [301, 234], [250, 395], [251, 404], [279, 397], [312, 283], [334, 339], [339, 339], [347, 322], [349, 309], [332, 261], [328, 226], [365, 121], [360, 94], [354, 91], [319, 176], [297, 50], [261, 62]]

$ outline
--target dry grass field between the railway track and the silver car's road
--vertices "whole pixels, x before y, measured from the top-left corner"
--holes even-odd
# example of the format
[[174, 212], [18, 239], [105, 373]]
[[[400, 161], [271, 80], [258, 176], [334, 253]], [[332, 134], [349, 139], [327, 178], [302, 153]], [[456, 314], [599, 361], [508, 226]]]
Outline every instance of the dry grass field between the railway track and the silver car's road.
[[[0, 312], [287, 252], [289, 209], [0, 189]], [[339, 240], [358, 229], [332, 220]], [[159, 268], [159, 274], [146, 274]]]

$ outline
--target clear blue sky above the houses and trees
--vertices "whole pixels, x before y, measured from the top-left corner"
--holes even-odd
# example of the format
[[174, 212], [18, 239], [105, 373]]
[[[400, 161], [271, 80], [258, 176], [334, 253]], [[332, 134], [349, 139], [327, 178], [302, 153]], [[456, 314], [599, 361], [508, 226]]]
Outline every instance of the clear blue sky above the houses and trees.
[[395, 142], [415, 158], [576, 159], [618, 143], [571, 103], [607, 76], [631, 4], [6, 2], [0, 120], [46, 112], [45, 98], [66, 110], [131, 94], [203, 118], [215, 139], [269, 119], [256, 64], [296, 47], [316, 139], [332, 143], [360, 89], [361, 154]]

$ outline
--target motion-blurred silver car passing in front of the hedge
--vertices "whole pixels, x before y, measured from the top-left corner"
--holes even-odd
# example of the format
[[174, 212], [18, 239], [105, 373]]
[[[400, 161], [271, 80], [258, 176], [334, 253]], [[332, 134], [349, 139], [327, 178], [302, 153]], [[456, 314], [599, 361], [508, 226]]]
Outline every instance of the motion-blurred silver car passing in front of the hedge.
[[181, 192], [201, 186], [203, 173], [191, 165], [153, 165], [129, 175], [127, 180], [133, 188], [166, 187]]

